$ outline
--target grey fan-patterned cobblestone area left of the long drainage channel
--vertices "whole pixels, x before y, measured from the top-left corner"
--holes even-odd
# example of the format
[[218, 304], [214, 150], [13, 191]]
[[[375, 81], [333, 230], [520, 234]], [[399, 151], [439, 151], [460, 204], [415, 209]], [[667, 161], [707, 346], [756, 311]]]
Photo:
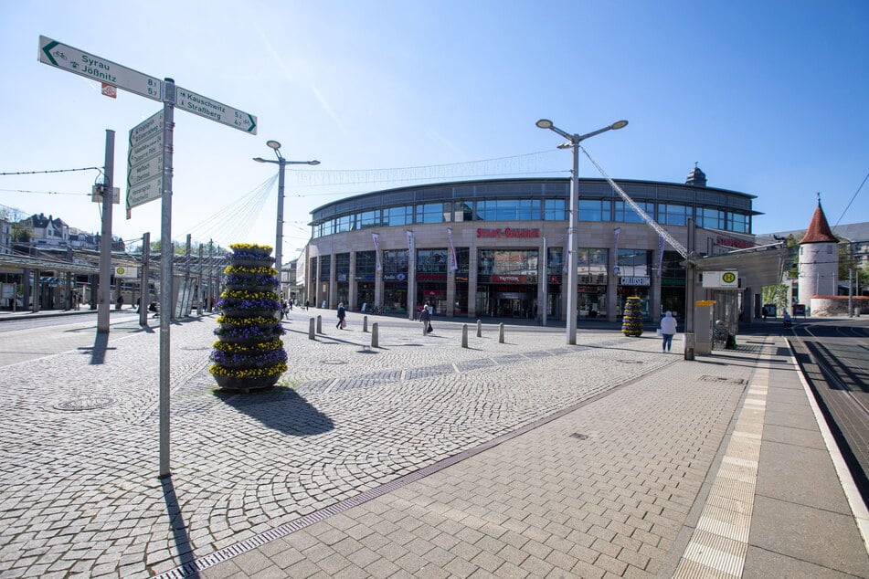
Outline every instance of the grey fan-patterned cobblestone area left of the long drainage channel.
[[[419, 323], [387, 318], [371, 348], [358, 315], [337, 331], [325, 312], [328, 335], [316, 341], [308, 314], [293, 316], [283, 385], [249, 395], [215, 392], [212, 317], [173, 325], [173, 476], [163, 482], [159, 332], [131, 321], [112, 328], [100, 360], [79, 346], [4, 366], [0, 574], [160, 574], [680, 359], [653, 337], [580, 332], [566, 346], [563, 330], [527, 327], [499, 343], [496, 327], [478, 338], [472, 325], [461, 348], [458, 323], [422, 336]], [[0, 349], [17, 334], [0, 335]], [[713, 424], [737, 399], [724, 395]], [[84, 405], [108, 406], [58, 408]]]

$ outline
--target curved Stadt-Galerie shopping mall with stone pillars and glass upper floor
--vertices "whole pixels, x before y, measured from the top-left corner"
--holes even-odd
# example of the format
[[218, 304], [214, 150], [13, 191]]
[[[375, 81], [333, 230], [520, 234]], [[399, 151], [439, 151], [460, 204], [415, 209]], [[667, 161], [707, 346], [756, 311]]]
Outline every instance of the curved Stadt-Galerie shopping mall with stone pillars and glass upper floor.
[[[755, 195], [617, 180], [689, 250], [753, 247]], [[448, 317], [564, 320], [569, 178], [425, 184], [355, 195], [313, 210], [299, 259], [303, 299], [326, 308], [408, 314], [423, 302]], [[615, 321], [628, 296], [644, 315], [685, 311], [684, 258], [603, 179], [579, 180], [580, 318]]]

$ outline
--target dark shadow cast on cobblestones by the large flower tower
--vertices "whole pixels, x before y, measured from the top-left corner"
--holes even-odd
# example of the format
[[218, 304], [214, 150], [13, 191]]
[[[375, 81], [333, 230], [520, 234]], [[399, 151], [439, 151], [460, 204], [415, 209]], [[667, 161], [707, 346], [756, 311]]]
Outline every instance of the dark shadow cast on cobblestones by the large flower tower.
[[216, 390], [214, 394], [238, 412], [291, 437], [322, 434], [334, 428], [329, 416], [291, 388], [277, 386], [249, 394]]

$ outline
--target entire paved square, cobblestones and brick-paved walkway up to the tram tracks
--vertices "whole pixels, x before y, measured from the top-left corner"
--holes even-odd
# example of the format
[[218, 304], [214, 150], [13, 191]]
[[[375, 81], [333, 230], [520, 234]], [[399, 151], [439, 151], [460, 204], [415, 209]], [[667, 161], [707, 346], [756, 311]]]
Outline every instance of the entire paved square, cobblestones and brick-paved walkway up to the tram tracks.
[[0, 333], [0, 576], [869, 576], [780, 335], [689, 362], [614, 326], [464, 348], [459, 321], [296, 310], [279, 386], [230, 394], [193, 317], [158, 479], [159, 329], [127, 315], [58, 354]]

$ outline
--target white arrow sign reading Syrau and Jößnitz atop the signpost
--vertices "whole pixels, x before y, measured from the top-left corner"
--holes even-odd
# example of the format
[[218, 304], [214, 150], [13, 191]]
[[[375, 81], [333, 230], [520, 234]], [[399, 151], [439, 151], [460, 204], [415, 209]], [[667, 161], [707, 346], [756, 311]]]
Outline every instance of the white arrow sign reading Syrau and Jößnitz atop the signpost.
[[81, 75], [86, 79], [111, 84], [113, 87], [129, 90], [148, 99], [163, 100], [162, 80], [149, 77], [132, 68], [122, 67], [90, 52], [61, 44], [57, 40], [40, 36], [38, 58], [43, 64]]

